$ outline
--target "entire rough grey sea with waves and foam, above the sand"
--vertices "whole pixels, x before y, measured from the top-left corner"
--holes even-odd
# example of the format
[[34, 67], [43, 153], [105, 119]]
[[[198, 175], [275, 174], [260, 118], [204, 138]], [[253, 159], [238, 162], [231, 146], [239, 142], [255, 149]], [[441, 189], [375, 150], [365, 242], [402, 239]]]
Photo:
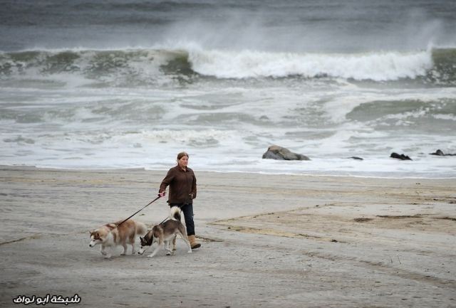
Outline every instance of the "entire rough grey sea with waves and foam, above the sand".
[[455, 1], [0, 4], [0, 164], [456, 177]]

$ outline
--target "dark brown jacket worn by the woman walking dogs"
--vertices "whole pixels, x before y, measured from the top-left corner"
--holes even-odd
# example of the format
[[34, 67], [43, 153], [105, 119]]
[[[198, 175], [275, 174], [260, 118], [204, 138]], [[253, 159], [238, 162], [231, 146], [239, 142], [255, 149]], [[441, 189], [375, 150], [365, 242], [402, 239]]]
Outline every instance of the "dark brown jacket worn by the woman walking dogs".
[[168, 203], [192, 204], [192, 199], [197, 197], [197, 178], [188, 167], [187, 171], [182, 170], [180, 166], [172, 167], [160, 184], [159, 192], [165, 191], [168, 185]]

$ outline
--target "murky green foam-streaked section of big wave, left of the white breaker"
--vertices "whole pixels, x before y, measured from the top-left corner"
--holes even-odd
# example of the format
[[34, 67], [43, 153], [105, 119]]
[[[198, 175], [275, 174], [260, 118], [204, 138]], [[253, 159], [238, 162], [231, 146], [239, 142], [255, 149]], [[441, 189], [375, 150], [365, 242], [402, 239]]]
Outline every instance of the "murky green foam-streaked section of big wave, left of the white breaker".
[[[102, 87], [150, 85], [166, 82], [170, 73], [185, 75], [187, 72], [182, 72], [184, 65], [180, 59], [186, 62], [185, 51], [77, 49], [0, 53], [0, 78], [9, 81], [11, 78], [63, 80]], [[177, 65], [173, 66], [173, 63]], [[174, 71], [167, 68], [174, 68]]]

